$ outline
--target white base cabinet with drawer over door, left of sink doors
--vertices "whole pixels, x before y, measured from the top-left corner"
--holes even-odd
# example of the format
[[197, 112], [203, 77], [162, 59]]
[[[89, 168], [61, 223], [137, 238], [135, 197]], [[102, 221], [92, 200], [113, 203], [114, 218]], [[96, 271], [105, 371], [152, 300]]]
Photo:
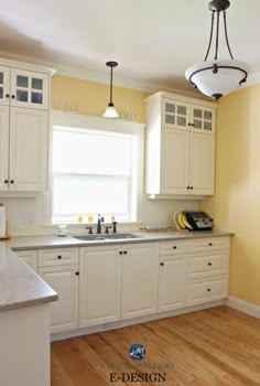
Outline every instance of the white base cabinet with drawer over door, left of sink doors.
[[39, 250], [39, 275], [58, 294], [51, 304], [51, 332], [78, 328], [78, 248]]

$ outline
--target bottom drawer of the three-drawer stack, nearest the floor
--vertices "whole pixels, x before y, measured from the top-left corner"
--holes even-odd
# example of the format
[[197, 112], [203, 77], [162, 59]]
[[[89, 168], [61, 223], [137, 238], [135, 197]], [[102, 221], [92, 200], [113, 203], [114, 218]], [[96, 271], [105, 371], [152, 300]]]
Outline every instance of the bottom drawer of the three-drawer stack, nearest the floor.
[[227, 277], [189, 282], [187, 286], [187, 305], [225, 299], [228, 296]]

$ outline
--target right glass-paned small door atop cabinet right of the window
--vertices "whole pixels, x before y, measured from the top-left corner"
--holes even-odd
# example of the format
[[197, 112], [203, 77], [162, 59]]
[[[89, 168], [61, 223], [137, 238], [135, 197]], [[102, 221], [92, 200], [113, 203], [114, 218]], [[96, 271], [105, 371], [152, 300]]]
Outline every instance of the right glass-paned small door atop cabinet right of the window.
[[191, 130], [215, 133], [215, 109], [198, 105], [191, 106]]

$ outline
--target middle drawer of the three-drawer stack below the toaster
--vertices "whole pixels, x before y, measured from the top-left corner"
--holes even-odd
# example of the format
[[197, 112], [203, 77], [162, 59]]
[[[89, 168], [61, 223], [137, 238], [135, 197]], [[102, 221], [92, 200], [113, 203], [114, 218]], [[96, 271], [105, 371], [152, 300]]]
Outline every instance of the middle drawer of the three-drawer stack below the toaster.
[[229, 254], [214, 251], [212, 254], [189, 254], [187, 262], [188, 279], [228, 274]]

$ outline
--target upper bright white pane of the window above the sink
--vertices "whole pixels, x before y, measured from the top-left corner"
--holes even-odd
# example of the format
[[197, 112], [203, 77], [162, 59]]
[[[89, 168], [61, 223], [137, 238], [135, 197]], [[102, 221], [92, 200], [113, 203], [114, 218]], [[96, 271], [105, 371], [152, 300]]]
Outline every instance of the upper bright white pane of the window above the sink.
[[130, 175], [132, 138], [127, 135], [54, 130], [53, 171]]

